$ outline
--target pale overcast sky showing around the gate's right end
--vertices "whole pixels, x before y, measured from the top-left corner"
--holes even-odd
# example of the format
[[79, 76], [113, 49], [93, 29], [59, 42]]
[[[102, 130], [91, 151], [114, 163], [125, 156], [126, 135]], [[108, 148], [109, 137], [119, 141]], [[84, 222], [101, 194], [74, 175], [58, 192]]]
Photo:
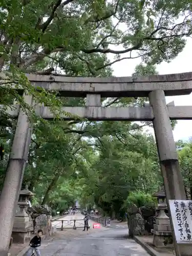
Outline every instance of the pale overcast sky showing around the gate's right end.
[[[170, 63], [162, 62], [157, 66], [157, 71], [160, 75], [192, 72], [192, 39], [188, 38], [184, 50]], [[128, 56], [128, 54], [127, 54]], [[126, 57], [126, 54], [123, 54]], [[136, 65], [141, 62], [141, 59], [122, 60], [115, 63], [112, 68], [115, 76], [132, 76]], [[192, 105], [192, 93], [183, 96], [166, 97], [166, 102], [175, 102], [175, 105]], [[148, 128], [147, 128], [148, 129]], [[148, 129], [154, 133], [153, 129]], [[173, 131], [175, 141], [188, 140], [192, 137], [192, 120], [178, 120]]]

